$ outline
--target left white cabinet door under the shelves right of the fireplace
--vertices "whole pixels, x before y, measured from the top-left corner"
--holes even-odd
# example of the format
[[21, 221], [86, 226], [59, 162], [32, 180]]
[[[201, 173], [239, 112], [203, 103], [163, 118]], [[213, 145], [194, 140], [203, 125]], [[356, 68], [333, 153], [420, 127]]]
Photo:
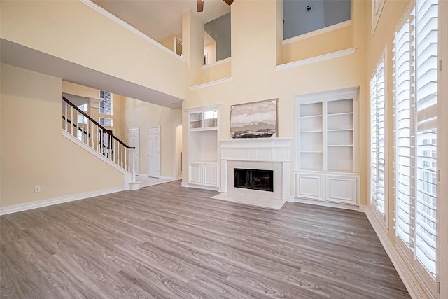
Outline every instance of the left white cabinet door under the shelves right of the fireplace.
[[325, 200], [325, 176], [295, 174], [295, 196], [309, 200]]

